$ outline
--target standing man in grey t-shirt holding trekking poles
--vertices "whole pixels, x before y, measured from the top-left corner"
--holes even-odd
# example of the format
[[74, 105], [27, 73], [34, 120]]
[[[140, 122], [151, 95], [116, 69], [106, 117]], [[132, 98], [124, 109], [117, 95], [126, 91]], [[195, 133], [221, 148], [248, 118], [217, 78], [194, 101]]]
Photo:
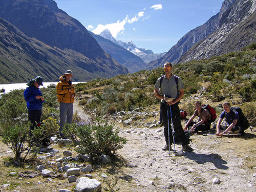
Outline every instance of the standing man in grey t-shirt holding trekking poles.
[[[173, 66], [170, 62], [164, 63], [163, 69], [165, 75], [157, 79], [154, 90], [155, 96], [162, 99], [160, 113], [163, 120], [166, 142], [163, 150], [170, 150], [172, 148], [172, 143], [174, 143], [175, 147], [175, 138], [175, 140], [182, 143], [183, 151], [191, 152], [193, 151], [193, 148], [188, 145], [189, 140], [182, 129], [180, 109], [178, 106], [178, 102], [184, 95], [182, 80], [180, 77], [173, 75]], [[159, 93], [160, 88], [162, 95]]]

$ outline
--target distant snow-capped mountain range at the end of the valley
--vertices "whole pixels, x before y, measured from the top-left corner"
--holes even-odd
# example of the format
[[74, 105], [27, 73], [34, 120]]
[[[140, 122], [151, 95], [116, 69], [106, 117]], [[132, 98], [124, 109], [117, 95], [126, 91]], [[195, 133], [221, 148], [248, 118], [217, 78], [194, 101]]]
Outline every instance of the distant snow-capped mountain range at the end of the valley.
[[[106, 38], [106, 39], [111, 40], [115, 44], [117, 44], [117, 45], [123, 47], [124, 49], [132, 52], [133, 54], [139, 56], [140, 58], [142, 58], [142, 60], [146, 64], [150, 63], [153, 60], [156, 60], [156, 59], [162, 57], [165, 54], [165, 53], [154, 54], [154, 52], [152, 50], [144, 49], [144, 48], [137, 48], [137, 46], [133, 43], [133, 41], [123, 42], [121, 40], [116, 40], [112, 36], [112, 34], [110, 33], [110, 31], [108, 29], [105, 29], [104, 31], [102, 31], [99, 35]], [[106, 51], [106, 52], [108, 52], [108, 51]]]

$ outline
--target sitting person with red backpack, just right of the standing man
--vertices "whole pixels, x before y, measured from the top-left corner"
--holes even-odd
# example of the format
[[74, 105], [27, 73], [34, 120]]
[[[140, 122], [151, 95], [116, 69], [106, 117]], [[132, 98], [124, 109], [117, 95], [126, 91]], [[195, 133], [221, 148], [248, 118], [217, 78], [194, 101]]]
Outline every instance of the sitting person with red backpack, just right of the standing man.
[[[194, 112], [193, 116], [186, 122], [184, 127], [184, 131], [187, 128], [191, 127], [191, 133], [198, 133], [198, 131], [207, 131], [210, 129], [210, 122], [207, 123], [207, 120], [210, 119], [211, 115], [207, 109], [202, 108], [202, 104], [200, 101], [195, 102], [196, 111]], [[199, 121], [195, 122], [193, 119], [195, 117], [199, 117]]]

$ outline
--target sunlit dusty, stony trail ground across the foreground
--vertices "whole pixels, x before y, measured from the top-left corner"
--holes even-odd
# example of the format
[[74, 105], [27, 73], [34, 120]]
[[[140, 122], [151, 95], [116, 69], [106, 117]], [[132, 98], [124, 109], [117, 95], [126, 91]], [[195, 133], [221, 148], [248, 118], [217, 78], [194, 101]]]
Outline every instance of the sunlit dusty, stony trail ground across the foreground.
[[[256, 191], [255, 132], [247, 130], [244, 136], [222, 138], [193, 135], [190, 137], [193, 139], [190, 146], [194, 151], [185, 152], [183, 156], [177, 157], [174, 151], [169, 154], [168, 151], [161, 150], [165, 141], [163, 127], [156, 123], [159, 118], [158, 108], [159, 106], [153, 106], [151, 109], [136, 109], [133, 112], [119, 112], [104, 117], [116, 124], [115, 127], [120, 129], [120, 136], [126, 138], [127, 143], [118, 150], [119, 160], [115, 167], [113, 165], [95, 168], [93, 165], [94, 171], [90, 174], [94, 179], [101, 181], [99, 174], [102, 173], [109, 177], [116, 176], [118, 181], [113, 188], [119, 187], [119, 191], [127, 192]], [[77, 102], [74, 109], [82, 120], [89, 118]], [[182, 123], [184, 125], [184, 121]], [[175, 146], [177, 151], [182, 148], [179, 144]], [[52, 147], [58, 148], [57, 145]], [[3, 162], [11, 156], [7, 150], [8, 148], [1, 144], [2, 175], [6, 172]], [[61, 154], [67, 148], [58, 148], [58, 150]], [[74, 153], [72, 149], [69, 150]], [[2, 181], [2, 184], [6, 184], [6, 181], [12, 183], [22, 179], [18, 176], [9, 176]], [[68, 179], [50, 180], [41, 175], [35, 180], [26, 180], [26, 182], [27, 185], [16, 188], [2, 185], [0, 191], [59, 191], [61, 188], [72, 190], [75, 187], [75, 184], [69, 183]]]

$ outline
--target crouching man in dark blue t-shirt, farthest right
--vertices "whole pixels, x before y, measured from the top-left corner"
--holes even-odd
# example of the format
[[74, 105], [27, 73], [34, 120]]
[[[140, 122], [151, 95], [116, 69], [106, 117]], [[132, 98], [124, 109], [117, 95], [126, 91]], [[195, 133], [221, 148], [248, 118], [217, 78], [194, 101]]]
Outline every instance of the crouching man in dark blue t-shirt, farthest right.
[[[220, 119], [218, 120], [217, 126], [216, 126], [216, 135], [222, 136], [225, 133], [234, 133], [239, 132], [241, 127], [237, 125], [237, 122], [239, 120], [239, 114], [236, 111], [232, 111], [230, 109], [229, 102], [224, 102], [222, 104], [224, 111], [221, 113]], [[221, 122], [226, 118], [225, 125], [222, 125]], [[215, 127], [215, 126], [214, 126]], [[224, 130], [224, 132], [220, 133], [221, 130]]]

